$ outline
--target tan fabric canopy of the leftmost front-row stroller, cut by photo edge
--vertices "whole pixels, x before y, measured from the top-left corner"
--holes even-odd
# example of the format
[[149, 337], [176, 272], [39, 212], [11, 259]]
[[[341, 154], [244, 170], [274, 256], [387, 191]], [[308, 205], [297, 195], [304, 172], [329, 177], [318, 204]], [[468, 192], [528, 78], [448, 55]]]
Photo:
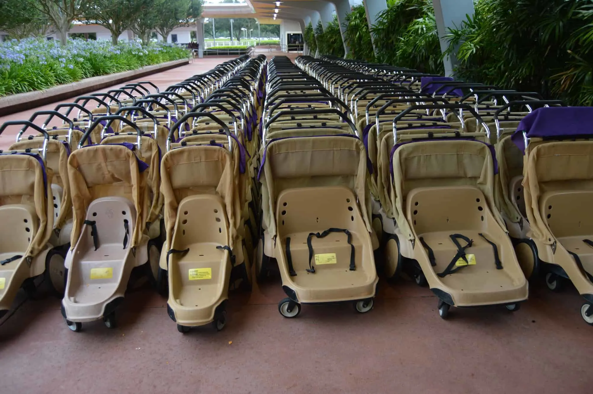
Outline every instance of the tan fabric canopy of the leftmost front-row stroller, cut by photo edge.
[[[53, 231], [53, 171], [40, 164], [40, 156], [0, 155], [0, 206], [27, 204], [35, 209], [39, 230], [31, 239], [25, 257], [35, 257], [43, 250]], [[46, 181], [44, 181], [44, 175]]]

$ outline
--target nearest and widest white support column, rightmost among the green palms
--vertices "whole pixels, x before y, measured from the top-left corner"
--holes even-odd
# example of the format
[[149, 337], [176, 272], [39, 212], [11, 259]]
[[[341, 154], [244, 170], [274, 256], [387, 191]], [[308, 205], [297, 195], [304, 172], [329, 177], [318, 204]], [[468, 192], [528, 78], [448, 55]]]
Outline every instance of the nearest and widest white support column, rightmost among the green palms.
[[[435, 8], [436, 30], [441, 41], [441, 52], [445, 52], [448, 47], [445, 35], [449, 28], [460, 26], [461, 22], [466, 20], [466, 15], [474, 14], [473, 0], [432, 0]], [[443, 59], [445, 65], [445, 76], [453, 76], [453, 70], [457, 65], [457, 57], [446, 56]]]

